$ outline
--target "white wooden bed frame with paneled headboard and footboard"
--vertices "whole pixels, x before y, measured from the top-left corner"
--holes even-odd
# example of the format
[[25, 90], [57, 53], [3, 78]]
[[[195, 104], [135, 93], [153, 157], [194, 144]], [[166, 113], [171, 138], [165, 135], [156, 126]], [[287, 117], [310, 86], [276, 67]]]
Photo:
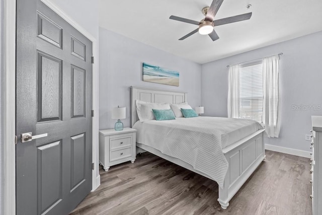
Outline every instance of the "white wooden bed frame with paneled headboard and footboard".
[[[144, 102], [156, 102], [156, 103], [182, 103], [187, 101], [187, 93], [159, 90], [151, 88], [131, 87], [132, 99], [131, 99], [131, 125], [133, 126], [138, 121], [136, 113], [136, 100]], [[234, 144], [224, 148], [222, 150], [225, 158], [228, 162], [228, 170], [224, 179], [223, 188], [218, 188], [218, 202], [223, 209], [226, 209], [229, 205], [230, 199], [236, 194], [241, 186], [252, 175], [256, 168], [265, 159], [265, 147], [263, 141], [263, 132], [265, 129], [256, 131], [255, 133], [240, 139]], [[190, 164], [184, 161], [165, 155], [160, 151], [148, 147], [143, 144], [136, 143], [136, 146], [148, 151], [158, 157], [166, 159], [172, 163], [182, 166], [188, 170], [198, 173], [211, 180], [213, 178], [206, 174], [195, 170]]]

